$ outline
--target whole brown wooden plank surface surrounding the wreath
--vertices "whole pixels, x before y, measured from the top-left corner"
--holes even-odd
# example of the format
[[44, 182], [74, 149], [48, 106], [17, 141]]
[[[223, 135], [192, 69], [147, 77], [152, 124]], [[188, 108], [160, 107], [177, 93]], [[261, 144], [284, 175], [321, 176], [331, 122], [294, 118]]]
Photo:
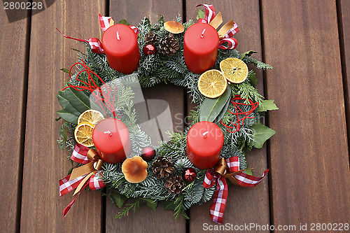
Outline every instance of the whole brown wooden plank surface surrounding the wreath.
[[[195, 19], [195, 0], [45, 1], [47, 9], [9, 23], [1, 9], [1, 232], [202, 232], [214, 226], [209, 204], [194, 206], [190, 220], [175, 221], [172, 211], [141, 206], [114, 219], [119, 209], [101, 192], [83, 192], [69, 215], [71, 195], [59, 197], [58, 180], [71, 167], [56, 139], [57, 92], [68, 76], [60, 71], [76, 62], [55, 28], [79, 38], [101, 38], [97, 13], [138, 24], [181, 15]], [[270, 168], [253, 189], [230, 187], [224, 224], [295, 225], [349, 223], [350, 1], [211, 0], [223, 20], [235, 20], [238, 50], [274, 66], [258, 71], [258, 88], [279, 111], [266, 123], [276, 135], [262, 150], [247, 155], [255, 174]], [[146, 90], [146, 98], [165, 99], [172, 114], [186, 115], [186, 90], [172, 85]], [[154, 90], [154, 89], [153, 89]], [[174, 101], [175, 100], [175, 101]], [[315, 228], [316, 229], [316, 228]], [[240, 230], [236, 232], [248, 232]], [[263, 232], [256, 228], [249, 232]], [[268, 231], [265, 231], [268, 232]], [[328, 232], [328, 231], [326, 231]], [[344, 232], [344, 231], [343, 231]], [[345, 231], [346, 232], [346, 231]]]

